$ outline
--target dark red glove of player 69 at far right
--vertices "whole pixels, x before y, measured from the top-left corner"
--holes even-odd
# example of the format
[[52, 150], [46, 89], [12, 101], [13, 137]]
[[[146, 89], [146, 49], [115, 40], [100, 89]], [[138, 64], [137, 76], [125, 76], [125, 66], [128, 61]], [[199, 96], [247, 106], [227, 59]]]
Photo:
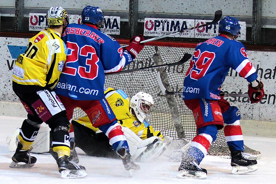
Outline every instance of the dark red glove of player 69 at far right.
[[263, 82], [258, 81], [256, 79], [256, 82], [258, 82], [258, 86], [253, 87], [252, 83], [250, 82], [248, 85], [248, 96], [251, 103], [258, 103], [260, 102], [263, 97], [265, 96], [264, 90], [263, 90]]

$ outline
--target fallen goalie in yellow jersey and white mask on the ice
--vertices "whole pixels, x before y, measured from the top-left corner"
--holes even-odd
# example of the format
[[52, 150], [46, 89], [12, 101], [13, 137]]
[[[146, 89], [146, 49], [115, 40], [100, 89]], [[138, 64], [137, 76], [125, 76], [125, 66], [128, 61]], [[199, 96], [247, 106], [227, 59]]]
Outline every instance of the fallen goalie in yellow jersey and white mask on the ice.
[[[105, 88], [105, 98], [122, 126], [133, 159], [147, 162], [172, 145], [173, 140], [170, 137], [165, 136], [164, 139], [161, 132], [154, 131], [150, 125], [150, 112], [154, 104], [150, 94], [139, 92], [129, 99], [124, 91], [109, 87]], [[94, 118], [97, 119], [98, 116]], [[72, 120], [74, 134], [71, 127], [70, 136], [75, 136], [75, 145], [87, 155], [117, 158], [107, 136], [94, 128], [93, 119], [91, 121], [87, 116]], [[179, 140], [177, 143], [174, 141], [178, 147], [180, 145], [180, 149], [188, 147], [187, 143], [187, 140]]]

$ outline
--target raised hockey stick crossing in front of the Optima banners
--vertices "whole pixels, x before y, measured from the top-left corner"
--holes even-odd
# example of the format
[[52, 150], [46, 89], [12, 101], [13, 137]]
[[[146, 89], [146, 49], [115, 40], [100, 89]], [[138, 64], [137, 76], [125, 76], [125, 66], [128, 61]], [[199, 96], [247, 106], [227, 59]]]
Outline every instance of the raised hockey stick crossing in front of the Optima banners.
[[[207, 25], [215, 24], [215, 23], [217, 23], [220, 20], [221, 16], [222, 16], [222, 11], [221, 10], [217, 10], [215, 12], [215, 17], [214, 17], [213, 21], [211, 21], [211, 22], [207, 22], [206, 24], [198, 25], [198, 26], [191, 27], [191, 28], [188, 28], [188, 29], [182, 29], [180, 31], [175, 31], [173, 33], [165, 34], [165, 35], [162, 35], [162, 36], [157, 36], [157, 37], [154, 37], [154, 38], [150, 38], [148, 40], [143, 40], [140, 43], [142, 44], [142, 43], [147, 43], [147, 42], [154, 41], [154, 40], [159, 40], [159, 39], [162, 39], [162, 38], [166, 38], [168, 36], [176, 35], [178, 33], [183, 33], [183, 32], [186, 32], [186, 31], [190, 31], [192, 29], [197, 29], [197, 28], [201, 28], [201, 27], [204, 27], [204, 26], [207, 26]], [[125, 47], [127, 47], [127, 45], [123, 46], [122, 48], [125, 48]]]

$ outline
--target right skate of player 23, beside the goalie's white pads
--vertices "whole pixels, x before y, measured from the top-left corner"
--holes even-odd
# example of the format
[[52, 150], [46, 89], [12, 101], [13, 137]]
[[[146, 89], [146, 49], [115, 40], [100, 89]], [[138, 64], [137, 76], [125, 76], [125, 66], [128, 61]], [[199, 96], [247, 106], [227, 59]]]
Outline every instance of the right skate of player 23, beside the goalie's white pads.
[[133, 171], [140, 169], [140, 166], [131, 160], [131, 155], [125, 148], [119, 149], [117, 154], [121, 157], [125, 170], [129, 171], [130, 175]]

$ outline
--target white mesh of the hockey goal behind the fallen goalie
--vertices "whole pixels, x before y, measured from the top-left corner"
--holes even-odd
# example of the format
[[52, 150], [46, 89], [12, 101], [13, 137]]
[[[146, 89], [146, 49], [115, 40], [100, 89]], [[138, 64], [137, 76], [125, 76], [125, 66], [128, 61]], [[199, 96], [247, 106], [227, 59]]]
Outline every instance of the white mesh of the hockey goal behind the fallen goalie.
[[[175, 63], [182, 59], [184, 53], [193, 55], [194, 48], [181, 47], [164, 47], [164, 46], [145, 46], [139, 55], [134, 59], [133, 63], [126, 66], [123, 70], [134, 68], [156, 66], [152, 57], [159, 53], [163, 64]], [[170, 90], [182, 92], [183, 79], [189, 68], [189, 61], [178, 66], [166, 67], [166, 78], [169, 82]], [[159, 65], [159, 64], [158, 64]], [[179, 117], [179, 123], [184, 130], [185, 138], [192, 140], [196, 136], [196, 126], [192, 111], [188, 109], [181, 96], [162, 94], [157, 83], [157, 69], [135, 71], [131, 73], [109, 75], [105, 78], [105, 86], [115, 89], [124, 90], [128, 97], [132, 97], [140, 91], [147, 92], [154, 99], [154, 107], [152, 109], [152, 119], [150, 124], [154, 130], [159, 130], [163, 136], [170, 136], [174, 139], [181, 138], [175, 128], [175, 115]], [[163, 74], [164, 75], [164, 74]], [[172, 109], [172, 111], [170, 110]], [[176, 111], [176, 113], [175, 113]], [[172, 114], [175, 113], [175, 114]], [[85, 113], [81, 109], [75, 109], [73, 118], [82, 117]], [[246, 152], [260, 156], [260, 152], [246, 147]], [[217, 140], [211, 144], [208, 152], [209, 155], [229, 155], [229, 149], [225, 140], [223, 129], [219, 130]]]

